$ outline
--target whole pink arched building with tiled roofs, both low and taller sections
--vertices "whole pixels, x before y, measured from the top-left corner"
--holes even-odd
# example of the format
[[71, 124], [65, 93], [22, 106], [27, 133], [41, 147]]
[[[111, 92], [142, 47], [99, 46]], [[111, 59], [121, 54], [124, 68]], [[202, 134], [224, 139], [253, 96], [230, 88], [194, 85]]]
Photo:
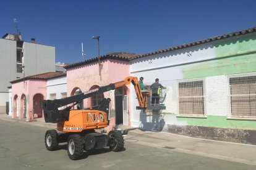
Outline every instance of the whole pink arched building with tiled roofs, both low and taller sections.
[[[48, 79], [66, 76], [67, 97], [69, 97], [96, 87], [122, 81], [129, 76], [129, 59], [136, 55], [127, 52], [101, 55], [100, 63], [99, 58], [73, 63], [64, 67], [66, 73], [44, 73], [12, 81], [12, 118], [26, 117], [27, 121], [31, 121], [33, 118], [43, 118], [41, 100], [48, 99]], [[80, 108], [92, 108], [98, 105], [102, 99], [110, 98], [111, 126], [109, 128], [112, 128], [114, 124], [129, 125], [128, 94], [129, 86], [119, 87], [114, 91], [84, 99]]]

